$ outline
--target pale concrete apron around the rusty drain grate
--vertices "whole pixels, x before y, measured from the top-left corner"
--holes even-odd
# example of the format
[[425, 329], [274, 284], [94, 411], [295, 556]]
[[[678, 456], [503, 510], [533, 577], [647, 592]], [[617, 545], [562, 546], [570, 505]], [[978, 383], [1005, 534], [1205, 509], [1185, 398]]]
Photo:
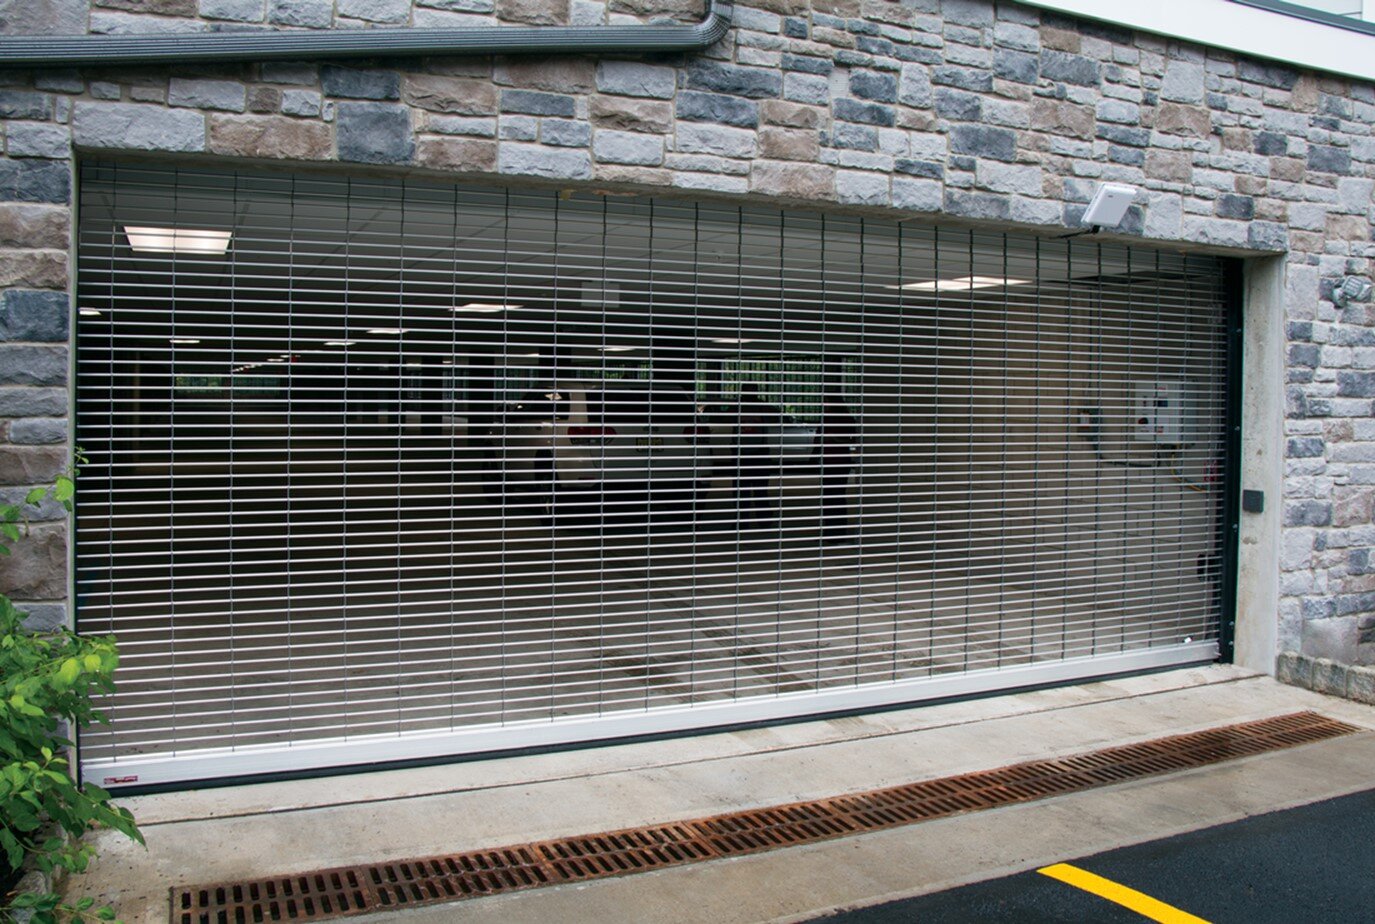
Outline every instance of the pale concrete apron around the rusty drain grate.
[[[818, 799], [1313, 710], [1375, 708], [1204, 667], [865, 716], [125, 800], [70, 890], [166, 921], [172, 886], [425, 857]], [[367, 916], [368, 921], [803, 920], [1375, 785], [1375, 734], [807, 847]], [[358, 918], [356, 918], [358, 920]]]

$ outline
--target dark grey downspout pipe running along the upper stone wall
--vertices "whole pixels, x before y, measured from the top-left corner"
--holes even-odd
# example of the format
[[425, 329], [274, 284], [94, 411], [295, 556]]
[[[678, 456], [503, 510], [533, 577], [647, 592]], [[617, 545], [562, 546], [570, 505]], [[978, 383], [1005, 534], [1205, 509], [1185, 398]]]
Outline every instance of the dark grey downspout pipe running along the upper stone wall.
[[290, 32], [4, 36], [0, 67], [173, 65], [451, 55], [642, 55], [701, 51], [730, 28], [708, 0], [701, 22], [645, 26], [491, 26], [474, 29], [323, 29]]

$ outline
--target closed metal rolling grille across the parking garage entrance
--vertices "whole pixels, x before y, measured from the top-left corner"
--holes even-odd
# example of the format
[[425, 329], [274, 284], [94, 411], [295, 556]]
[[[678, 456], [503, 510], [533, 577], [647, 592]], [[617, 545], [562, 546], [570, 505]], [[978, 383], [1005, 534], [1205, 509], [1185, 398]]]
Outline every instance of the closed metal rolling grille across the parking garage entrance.
[[85, 773], [597, 738], [1217, 650], [1217, 260], [88, 164]]

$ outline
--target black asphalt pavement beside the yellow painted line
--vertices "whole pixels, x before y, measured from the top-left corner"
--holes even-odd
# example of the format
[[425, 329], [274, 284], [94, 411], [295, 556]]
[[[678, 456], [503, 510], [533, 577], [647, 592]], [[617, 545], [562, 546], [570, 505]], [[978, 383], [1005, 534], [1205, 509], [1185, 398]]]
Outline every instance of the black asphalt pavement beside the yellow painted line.
[[[1375, 789], [1066, 862], [1211, 924], [1372, 921]], [[1027, 872], [815, 920], [1140, 924], [1148, 917]]]

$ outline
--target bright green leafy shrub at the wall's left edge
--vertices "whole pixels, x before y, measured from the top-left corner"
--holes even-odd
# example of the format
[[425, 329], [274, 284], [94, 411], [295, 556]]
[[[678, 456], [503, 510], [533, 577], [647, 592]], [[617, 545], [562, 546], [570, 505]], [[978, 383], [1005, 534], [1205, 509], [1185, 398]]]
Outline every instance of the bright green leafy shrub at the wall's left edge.
[[[77, 454], [77, 461], [84, 461]], [[47, 499], [72, 510], [76, 468], [48, 488], [34, 488], [22, 505], [0, 507], [0, 554], [28, 532], [28, 512]], [[81, 872], [94, 848], [81, 840], [92, 828], [113, 828], [143, 843], [128, 810], [110, 793], [80, 785], [72, 776], [67, 729], [104, 722], [94, 697], [114, 688], [120, 661], [114, 638], [87, 638], [59, 628], [25, 627], [25, 615], [0, 594], [0, 883], [12, 884], [26, 868], [44, 873]], [[8, 888], [8, 886], [7, 886]], [[0, 920], [26, 912], [34, 924], [114, 920], [95, 899], [66, 903], [56, 892], [21, 892], [0, 899]]]

